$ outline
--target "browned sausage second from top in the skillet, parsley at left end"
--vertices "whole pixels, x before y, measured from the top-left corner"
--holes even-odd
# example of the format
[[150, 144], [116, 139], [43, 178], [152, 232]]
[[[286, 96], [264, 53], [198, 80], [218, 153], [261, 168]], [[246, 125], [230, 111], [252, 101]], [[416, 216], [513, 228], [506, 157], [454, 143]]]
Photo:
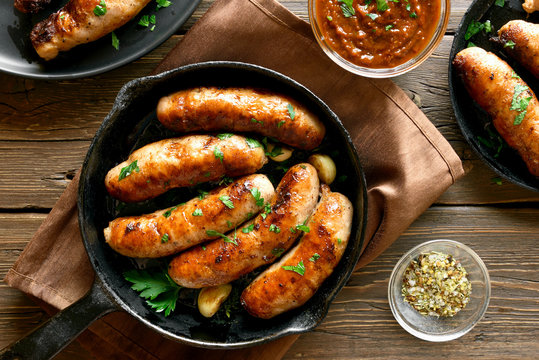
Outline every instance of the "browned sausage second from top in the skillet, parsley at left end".
[[105, 186], [125, 202], [154, 198], [175, 187], [242, 176], [260, 169], [268, 159], [257, 142], [233, 135], [219, 139], [190, 135], [165, 139], [134, 151], [111, 169]]

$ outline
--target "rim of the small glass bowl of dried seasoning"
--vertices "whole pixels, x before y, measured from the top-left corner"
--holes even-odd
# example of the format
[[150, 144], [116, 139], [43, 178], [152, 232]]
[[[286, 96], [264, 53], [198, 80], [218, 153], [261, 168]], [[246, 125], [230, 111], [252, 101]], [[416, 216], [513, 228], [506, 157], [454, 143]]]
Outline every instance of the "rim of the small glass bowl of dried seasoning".
[[[459, 247], [459, 248], [465, 250], [465, 252], [468, 253], [474, 259], [474, 261], [477, 263], [477, 265], [478, 265], [478, 267], [479, 267], [479, 269], [481, 271], [481, 274], [484, 276], [484, 279], [485, 279], [485, 302], [483, 303], [483, 305], [481, 306], [481, 309], [478, 312], [477, 319], [475, 321], [471, 322], [470, 324], [468, 324], [468, 326], [465, 329], [463, 329], [462, 331], [459, 331], [459, 332], [453, 332], [453, 333], [449, 333], [449, 334], [446, 333], [446, 334], [443, 334], [443, 335], [426, 334], [426, 333], [418, 330], [417, 328], [409, 326], [403, 320], [404, 316], [402, 316], [401, 313], [398, 312], [396, 310], [396, 307], [395, 307], [395, 301], [393, 300], [393, 296], [392, 296], [392, 289], [396, 285], [397, 280], [400, 280], [400, 279], [396, 279], [397, 271], [400, 268], [402, 268], [403, 265], [405, 265], [405, 264], [407, 264], [409, 262], [409, 260], [410, 260], [409, 258], [410, 258], [411, 254], [417, 252], [418, 250], [420, 250], [422, 248], [428, 248], [432, 244], [448, 244], [448, 245]], [[389, 283], [388, 283], [388, 286], [387, 286], [387, 297], [388, 297], [389, 307], [391, 309], [391, 312], [393, 313], [393, 317], [395, 318], [395, 320], [397, 320], [399, 325], [404, 330], [406, 330], [408, 333], [414, 335], [415, 337], [417, 337], [419, 339], [426, 340], [426, 341], [431, 341], [431, 342], [451, 341], [451, 340], [458, 339], [459, 337], [467, 334], [470, 330], [472, 330], [474, 328], [475, 325], [477, 325], [477, 323], [485, 315], [485, 313], [487, 311], [487, 308], [488, 308], [488, 305], [489, 305], [489, 302], [490, 302], [490, 295], [491, 295], [490, 276], [489, 276], [489, 273], [488, 273], [488, 269], [487, 269], [485, 263], [483, 262], [483, 260], [469, 246], [464, 245], [464, 244], [462, 244], [462, 243], [460, 243], [458, 241], [449, 240], [449, 239], [429, 240], [429, 241], [423, 242], [423, 243], [421, 243], [419, 245], [416, 245], [412, 249], [407, 251], [404, 255], [402, 255], [399, 258], [399, 260], [397, 261], [397, 263], [393, 267], [393, 270], [391, 271], [391, 275], [389, 277]]]

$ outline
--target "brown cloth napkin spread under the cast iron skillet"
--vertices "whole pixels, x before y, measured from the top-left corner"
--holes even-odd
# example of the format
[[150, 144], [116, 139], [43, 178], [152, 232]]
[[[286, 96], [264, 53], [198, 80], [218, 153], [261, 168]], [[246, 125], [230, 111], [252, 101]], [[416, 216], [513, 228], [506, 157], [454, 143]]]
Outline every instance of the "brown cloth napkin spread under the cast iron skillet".
[[[299, 81], [341, 118], [368, 184], [366, 247], [381, 254], [464, 174], [451, 146], [390, 80], [352, 75], [320, 50], [309, 25], [274, 0], [218, 0], [155, 70], [207, 60], [262, 65]], [[30, 241], [6, 281], [63, 309], [90, 288], [94, 271], [77, 223], [78, 178]], [[126, 313], [98, 320], [78, 340], [97, 359], [280, 359], [297, 336], [240, 350], [206, 350], [161, 337]]]

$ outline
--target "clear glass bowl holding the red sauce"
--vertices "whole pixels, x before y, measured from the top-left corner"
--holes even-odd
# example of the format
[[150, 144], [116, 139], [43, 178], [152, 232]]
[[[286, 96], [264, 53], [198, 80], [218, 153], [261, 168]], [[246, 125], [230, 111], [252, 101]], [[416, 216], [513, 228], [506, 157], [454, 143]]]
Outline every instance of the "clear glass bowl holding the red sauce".
[[356, 65], [342, 56], [340, 56], [336, 51], [334, 51], [331, 46], [327, 43], [326, 39], [322, 35], [321, 28], [318, 24], [316, 18], [316, 0], [309, 0], [309, 21], [311, 23], [311, 28], [313, 30], [316, 41], [326, 53], [326, 55], [333, 60], [337, 65], [342, 68], [356, 74], [370, 78], [388, 78], [394, 77], [397, 75], [402, 75], [405, 72], [408, 72], [417, 66], [419, 66], [423, 61], [434, 52], [442, 38], [444, 37], [445, 30], [447, 29], [447, 24], [449, 22], [449, 13], [450, 13], [450, 0], [440, 0], [440, 18], [438, 20], [438, 25], [434, 30], [434, 34], [430, 39], [430, 42], [427, 46], [419, 52], [414, 58], [408, 60], [407, 62], [397, 65], [390, 68], [369, 68], [364, 66]]

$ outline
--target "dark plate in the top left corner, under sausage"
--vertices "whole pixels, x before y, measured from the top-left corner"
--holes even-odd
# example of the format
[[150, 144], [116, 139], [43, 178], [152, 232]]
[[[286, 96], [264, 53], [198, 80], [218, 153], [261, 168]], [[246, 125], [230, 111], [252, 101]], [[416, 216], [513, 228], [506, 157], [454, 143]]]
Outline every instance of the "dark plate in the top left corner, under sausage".
[[[23, 14], [13, 7], [13, 0], [0, 2], [0, 70], [34, 79], [76, 79], [115, 69], [150, 52], [180, 28], [200, 0], [173, 0], [172, 5], [156, 11], [149, 3], [133, 20], [115, 30], [120, 48], [112, 47], [111, 35], [79, 45], [56, 59], [39, 58], [29, 35], [37, 22], [56, 12], [66, 0], [53, 0], [37, 15]], [[142, 15], [156, 15], [154, 31], [137, 25]]]

